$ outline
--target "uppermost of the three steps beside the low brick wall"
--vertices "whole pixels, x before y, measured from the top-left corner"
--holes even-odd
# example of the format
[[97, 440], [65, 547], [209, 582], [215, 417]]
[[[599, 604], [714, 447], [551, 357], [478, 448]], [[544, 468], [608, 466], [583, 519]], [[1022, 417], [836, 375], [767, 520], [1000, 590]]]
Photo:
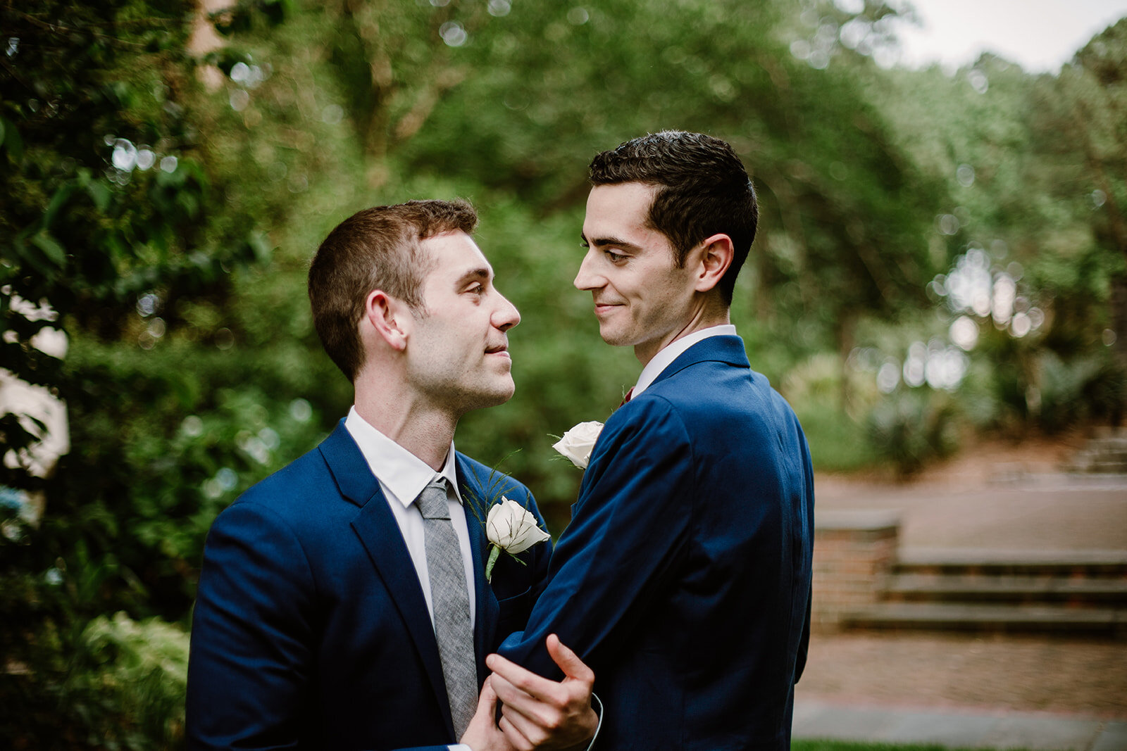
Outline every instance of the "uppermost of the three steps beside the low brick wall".
[[915, 548], [903, 551], [891, 573], [953, 576], [1040, 576], [1127, 580], [1125, 551]]

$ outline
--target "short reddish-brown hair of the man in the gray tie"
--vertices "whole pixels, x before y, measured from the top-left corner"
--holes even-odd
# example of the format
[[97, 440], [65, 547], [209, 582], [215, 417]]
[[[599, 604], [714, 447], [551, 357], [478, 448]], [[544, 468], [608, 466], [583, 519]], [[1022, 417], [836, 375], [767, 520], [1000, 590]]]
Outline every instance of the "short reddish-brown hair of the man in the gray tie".
[[464, 200], [409, 200], [356, 212], [325, 239], [309, 269], [309, 303], [325, 351], [355, 382], [364, 365], [360, 320], [373, 289], [424, 312], [423, 280], [434, 259], [420, 241], [473, 232], [477, 212]]

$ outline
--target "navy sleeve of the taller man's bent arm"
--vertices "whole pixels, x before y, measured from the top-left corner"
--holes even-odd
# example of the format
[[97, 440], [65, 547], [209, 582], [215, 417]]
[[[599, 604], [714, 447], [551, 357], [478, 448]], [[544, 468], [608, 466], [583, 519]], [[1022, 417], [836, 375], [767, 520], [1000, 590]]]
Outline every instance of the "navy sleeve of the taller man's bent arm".
[[559, 679], [544, 647], [554, 633], [597, 664], [675, 571], [693, 516], [693, 472], [689, 433], [665, 400], [638, 399], [612, 415], [552, 554], [547, 588], [500, 654]]

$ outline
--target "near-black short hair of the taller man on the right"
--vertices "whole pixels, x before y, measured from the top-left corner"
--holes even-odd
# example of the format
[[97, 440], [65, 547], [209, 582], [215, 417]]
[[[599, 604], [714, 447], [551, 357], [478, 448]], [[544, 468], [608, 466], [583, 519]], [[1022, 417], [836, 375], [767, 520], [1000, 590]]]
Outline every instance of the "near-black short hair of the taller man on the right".
[[702, 133], [662, 131], [597, 154], [589, 179], [594, 186], [657, 186], [647, 226], [669, 239], [678, 268], [706, 238], [717, 233], [731, 238], [731, 266], [718, 285], [725, 304], [731, 304], [760, 214], [755, 188], [731, 146]]

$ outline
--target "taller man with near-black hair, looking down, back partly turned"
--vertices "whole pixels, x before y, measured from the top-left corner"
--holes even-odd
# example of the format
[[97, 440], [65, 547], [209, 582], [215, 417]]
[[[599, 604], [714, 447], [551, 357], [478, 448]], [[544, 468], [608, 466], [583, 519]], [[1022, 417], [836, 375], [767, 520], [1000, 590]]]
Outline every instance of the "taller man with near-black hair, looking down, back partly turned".
[[680, 131], [596, 155], [591, 182], [575, 286], [642, 370], [592, 448], [523, 635], [490, 667], [557, 673], [554, 633], [597, 676], [601, 746], [784, 751], [809, 638], [814, 474], [728, 315], [755, 191], [727, 143]]

